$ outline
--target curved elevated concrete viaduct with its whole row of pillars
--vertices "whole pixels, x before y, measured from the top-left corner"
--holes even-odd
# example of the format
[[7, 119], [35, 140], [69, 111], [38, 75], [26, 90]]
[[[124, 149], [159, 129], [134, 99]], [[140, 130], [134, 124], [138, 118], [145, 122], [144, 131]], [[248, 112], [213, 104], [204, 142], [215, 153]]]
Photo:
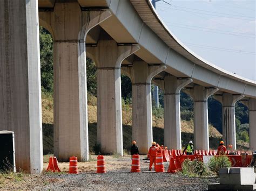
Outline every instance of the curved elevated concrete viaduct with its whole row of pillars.
[[167, 29], [149, 0], [0, 0], [0, 130], [15, 132], [16, 164], [43, 168], [38, 26], [53, 37], [54, 154], [89, 159], [86, 56], [97, 66], [97, 142], [123, 154], [120, 74], [132, 81], [132, 137], [152, 142], [151, 83], [164, 91], [164, 143], [181, 148], [180, 90], [194, 101], [194, 144], [209, 149], [207, 98], [223, 104], [223, 136], [235, 149], [234, 105], [250, 111], [256, 150], [256, 83], [200, 58]]

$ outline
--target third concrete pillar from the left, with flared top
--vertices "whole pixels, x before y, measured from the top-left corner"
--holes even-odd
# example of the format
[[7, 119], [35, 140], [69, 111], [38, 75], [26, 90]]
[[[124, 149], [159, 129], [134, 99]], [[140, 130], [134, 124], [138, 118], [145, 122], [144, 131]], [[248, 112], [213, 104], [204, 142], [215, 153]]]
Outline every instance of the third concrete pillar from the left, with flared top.
[[120, 67], [138, 49], [137, 45], [118, 46], [105, 33], [97, 47], [88, 48], [97, 66], [97, 140], [102, 153], [123, 155]]

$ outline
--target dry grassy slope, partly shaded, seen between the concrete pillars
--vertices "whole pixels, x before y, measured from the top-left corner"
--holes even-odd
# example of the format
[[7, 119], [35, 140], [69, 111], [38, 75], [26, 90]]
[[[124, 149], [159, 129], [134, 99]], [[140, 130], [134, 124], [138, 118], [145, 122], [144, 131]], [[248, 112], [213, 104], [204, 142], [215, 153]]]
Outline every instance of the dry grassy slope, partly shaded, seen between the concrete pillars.
[[[89, 96], [88, 98], [88, 120], [89, 120], [89, 148], [92, 152], [92, 147], [96, 143], [97, 137], [97, 107], [96, 98]], [[42, 97], [42, 115], [43, 115], [43, 152], [44, 154], [53, 153], [53, 103], [50, 96]], [[125, 105], [123, 107], [123, 142], [124, 149], [129, 150], [132, 141], [132, 127], [131, 127], [131, 107]], [[153, 116], [153, 139], [159, 144], [163, 144], [164, 137], [164, 121], [163, 119], [156, 119]], [[222, 135], [212, 126], [209, 127], [210, 132], [210, 147], [217, 148]], [[181, 140], [184, 146], [189, 140], [193, 140], [193, 121], [181, 122]]]

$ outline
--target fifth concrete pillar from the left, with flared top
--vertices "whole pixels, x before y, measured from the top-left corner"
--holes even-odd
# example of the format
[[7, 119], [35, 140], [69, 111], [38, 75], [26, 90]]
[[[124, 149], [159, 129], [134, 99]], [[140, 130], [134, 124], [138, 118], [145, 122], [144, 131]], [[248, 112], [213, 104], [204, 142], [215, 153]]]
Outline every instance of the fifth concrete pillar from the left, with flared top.
[[164, 91], [164, 145], [181, 150], [180, 90], [193, 80], [166, 74], [163, 80], [154, 81]]

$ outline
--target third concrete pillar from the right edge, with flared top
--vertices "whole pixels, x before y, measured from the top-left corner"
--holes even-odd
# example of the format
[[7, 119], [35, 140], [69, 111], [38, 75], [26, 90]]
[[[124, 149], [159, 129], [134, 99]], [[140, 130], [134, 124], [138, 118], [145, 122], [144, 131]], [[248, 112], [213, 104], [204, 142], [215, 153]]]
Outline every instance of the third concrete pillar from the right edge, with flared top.
[[218, 88], [194, 86], [185, 89], [185, 93], [192, 96], [194, 101], [194, 146], [198, 150], [209, 150], [208, 131], [208, 97], [217, 92]]

